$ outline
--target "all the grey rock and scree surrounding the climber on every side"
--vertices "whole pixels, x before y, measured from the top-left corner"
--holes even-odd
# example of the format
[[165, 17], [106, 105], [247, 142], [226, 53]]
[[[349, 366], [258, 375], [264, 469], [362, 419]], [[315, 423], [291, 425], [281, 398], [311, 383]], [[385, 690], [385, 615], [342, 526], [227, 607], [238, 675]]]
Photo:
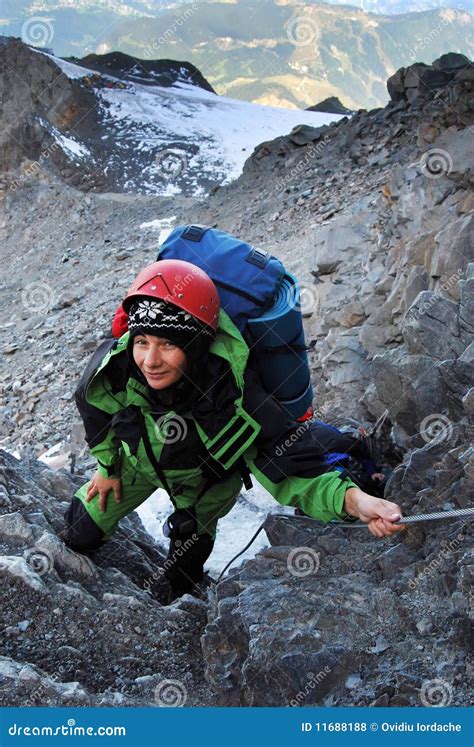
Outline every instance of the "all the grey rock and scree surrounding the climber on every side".
[[[467, 704], [467, 520], [375, 541], [273, 517], [271, 546], [207, 603], [167, 608], [148, 590], [162, 557], [137, 517], [97, 563], [57, 537], [92, 466], [72, 388], [171, 215], [253, 240], [301, 278], [316, 408], [386, 412], [388, 498], [405, 514], [469, 505], [473, 98], [458, 62], [433, 66], [429, 90], [426, 70], [397, 73], [384, 109], [263, 143], [205, 201], [84, 196], [48, 173], [9, 193], [2, 438], [22, 460], [1, 454], [3, 704], [162, 705], [170, 681], [188, 705]], [[33, 458], [71, 430], [77, 476]]]

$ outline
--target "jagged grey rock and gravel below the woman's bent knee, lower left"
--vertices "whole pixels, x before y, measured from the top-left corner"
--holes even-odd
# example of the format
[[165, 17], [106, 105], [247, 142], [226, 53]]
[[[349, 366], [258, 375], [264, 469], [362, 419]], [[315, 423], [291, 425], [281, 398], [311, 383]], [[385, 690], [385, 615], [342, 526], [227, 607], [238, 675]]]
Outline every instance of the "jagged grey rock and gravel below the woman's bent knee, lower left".
[[158, 601], [163, 556], [136, 515], [93, 560], [68, 550], [81, 483], [0, 451], [0, 705], [207, 705], [204, 602]]

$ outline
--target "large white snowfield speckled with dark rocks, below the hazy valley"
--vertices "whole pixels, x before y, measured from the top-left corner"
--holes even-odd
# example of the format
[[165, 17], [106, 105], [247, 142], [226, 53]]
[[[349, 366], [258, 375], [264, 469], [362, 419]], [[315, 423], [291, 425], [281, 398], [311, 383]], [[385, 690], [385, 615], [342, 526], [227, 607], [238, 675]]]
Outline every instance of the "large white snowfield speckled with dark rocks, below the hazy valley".
[[[48, 56], [70, 78], [89, 73]], [[204, 196], [215, 184], [237, 179], [260, 143], [297, 125], [321, 127], [341, 118], [252, 104], [182, 82], [169, 88], [128, 81], [127, 88], [93, 91], [110, 140], [110, 152], [101, 155], [102, 169], [127, 193]], [[61, 144], [77, 158], [86, 154], [75, 141], [64, 139]]]

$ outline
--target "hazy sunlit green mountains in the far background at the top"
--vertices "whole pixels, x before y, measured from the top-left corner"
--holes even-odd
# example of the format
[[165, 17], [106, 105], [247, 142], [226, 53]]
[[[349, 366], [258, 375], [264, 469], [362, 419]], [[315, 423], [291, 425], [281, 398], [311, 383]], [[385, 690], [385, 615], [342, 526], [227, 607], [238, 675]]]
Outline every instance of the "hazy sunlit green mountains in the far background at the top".
[[[385, 81], [400, 67], [429, 64], [449, 51], [474, 56], [474, 21], [459, 8], [389, 16], [243, 0], [172, 5], [159, 18], [117, 13], [110, 22], [74, 9], [62, 13], [36, 17], [37, 36], [59, 56], [120, 50], [141, 60], [188, 60], [221, 95], [285, 108], [305, 109], [329, 96], [351, 110], [383, 106]], [[34, 43], [25, 39], [34, 27], [29, 32], [22, 19], [10, 19], [11, 33]]]

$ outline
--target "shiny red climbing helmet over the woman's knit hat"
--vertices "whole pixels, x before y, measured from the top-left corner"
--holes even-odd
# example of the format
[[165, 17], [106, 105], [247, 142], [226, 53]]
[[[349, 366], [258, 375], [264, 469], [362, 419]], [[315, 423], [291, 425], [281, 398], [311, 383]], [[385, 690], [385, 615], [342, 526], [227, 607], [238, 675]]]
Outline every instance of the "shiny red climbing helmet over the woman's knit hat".
[[182, 259], [161, 259], [138, 273], [122, 303], [128, 314], [138, 298], [160, 298], [217, 330], [219, 294], [204, 270]]

